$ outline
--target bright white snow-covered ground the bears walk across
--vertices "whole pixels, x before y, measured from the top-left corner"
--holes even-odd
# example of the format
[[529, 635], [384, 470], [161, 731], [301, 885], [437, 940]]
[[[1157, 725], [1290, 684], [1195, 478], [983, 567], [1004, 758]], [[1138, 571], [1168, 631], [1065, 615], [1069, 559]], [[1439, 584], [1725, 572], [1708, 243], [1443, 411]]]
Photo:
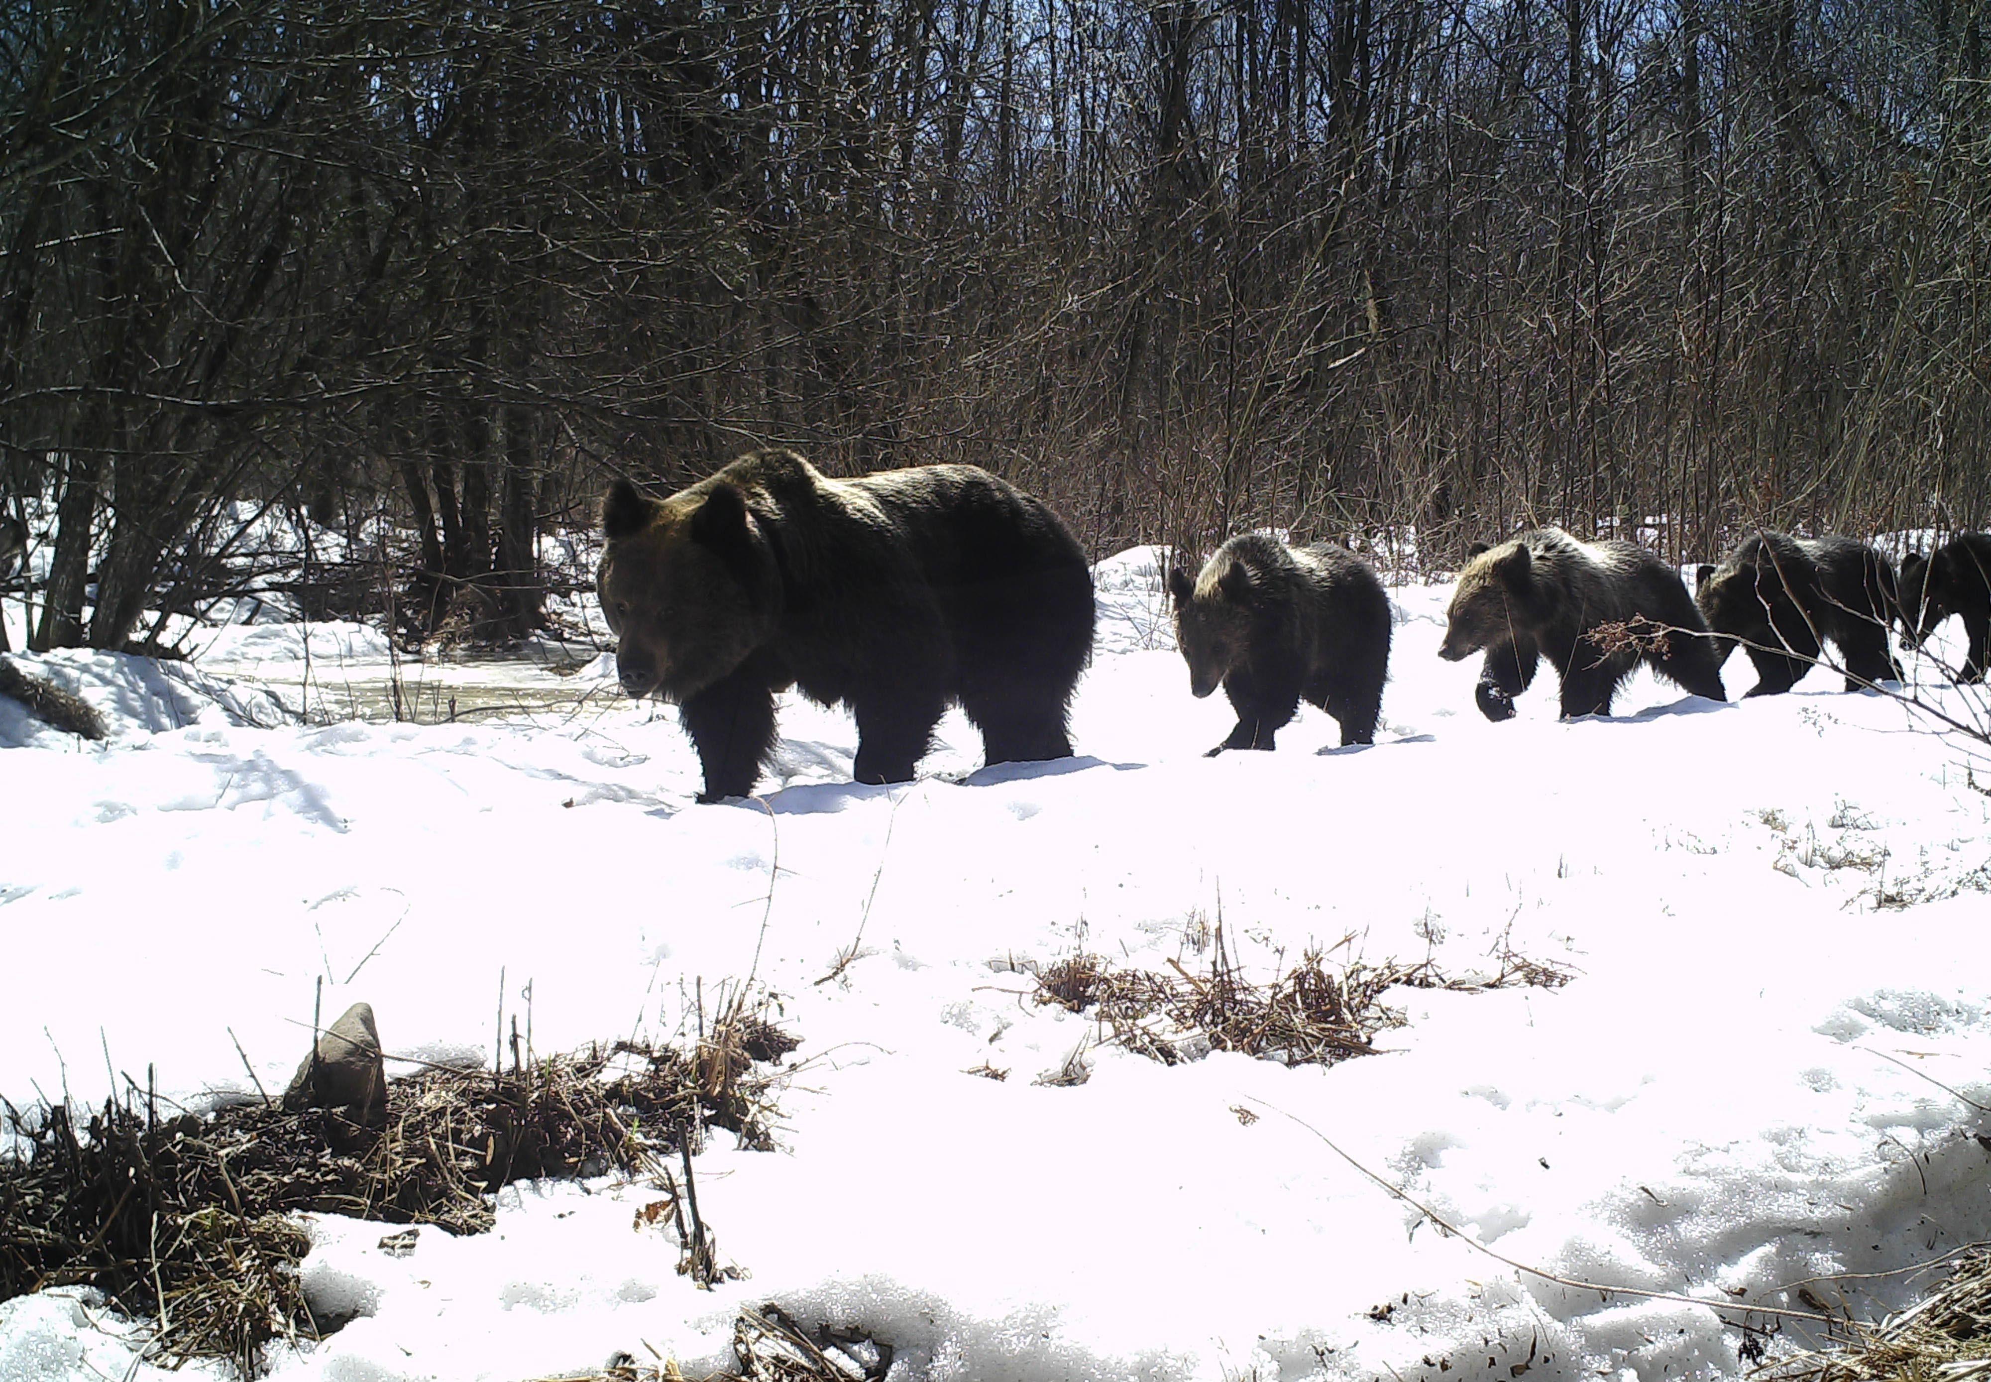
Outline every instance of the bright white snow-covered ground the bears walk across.
[[[360, 1318], [275, 1374], [323, 1382], [617, 1350], [699, 1376], [763, 1302], [888, 1340], [908, 1380], [1732, 1376], [1738, 1306], [1808, 1310], [1810, 1282], [1874, 1314], [1917, 1284], [1878, 1272], [1991, 1237], [1981, 745], [1828, 673], [1726, 707], [1641, 673], [1617, 719], [1565, 725], [1545, 669], [1489, 725], [1477, 665], [1436, 657], [1449, 589], [1412, 585], [1374, 747], [1304, 709], [1276, 753], [1205, 759], [1228, 707], [1189, 697], [1151, 554], [1099, 587], [1083, 757], [976, 771], [950, 717], [926, 777], [852, 787], [850, 721], [788, 703], [773, 781], [721, 806], [609, 663], [520, 673], [565, 713], [416, 727], [261, 717], [227, 673], [291, 677], [289, 625], [157, 693], [145, 665], [46, 659], [121, 729], [80, 747], [0, 703], [24, 745], [0, 759], [0, 1095], [92, 1101], [151, 1065], [201, 1107], [249, 1089], [235, 1039], [281, 1085], [317, 980], [424, 1059], [488, 1053], [500, 976], [542, 1051], [671, 1037], [699, 982], [774, 998], [804, 1041], [780, 1147], [699, 1157], [751, 1276], [677, 1276], [673, 1237], [631, 1229], [643, 1185], [514, 1187], [494, 1233], [422, 1229], [406, 1259], [319, 1219], [307, 1286]], [[315, 657], [378, 675], [384, 647], [327, 637]], [[1386, 1053], [1288, 1069], [1101, 1045], [1021, 972], [1207, 968], [1217, 920], [1264, 980], [1310, 946], [1465, 974], [1503, 944], [1577, 978], [1406, 990]], [[1035, 1083], [1075, 1051], [1085, 1083]], [[1364, 1169], [1515, 1263], [1710, 1304], [1521, 1276]], [[125, 1376], [119, 1328], [88, 1292], [0, 1304], [0, 1382]]]

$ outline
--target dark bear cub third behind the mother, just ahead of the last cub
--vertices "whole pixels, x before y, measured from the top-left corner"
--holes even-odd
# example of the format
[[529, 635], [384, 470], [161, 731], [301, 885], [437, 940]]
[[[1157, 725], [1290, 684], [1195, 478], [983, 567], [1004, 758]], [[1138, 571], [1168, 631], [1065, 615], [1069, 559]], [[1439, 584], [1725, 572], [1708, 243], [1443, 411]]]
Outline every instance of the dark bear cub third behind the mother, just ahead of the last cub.
[[1728, 661], [1742, 641], [1756, 663], [1746, 697], [1790, 691], [1826, 639], [1846, 659], [1848, 691], [1901, 679], [1887, 651], [1899, 609], [1893, 566], [1864, 542], [1758, 532], [1720, 566], [1698, 570], [1694, 603], [1716, 635], [1716, 661]]

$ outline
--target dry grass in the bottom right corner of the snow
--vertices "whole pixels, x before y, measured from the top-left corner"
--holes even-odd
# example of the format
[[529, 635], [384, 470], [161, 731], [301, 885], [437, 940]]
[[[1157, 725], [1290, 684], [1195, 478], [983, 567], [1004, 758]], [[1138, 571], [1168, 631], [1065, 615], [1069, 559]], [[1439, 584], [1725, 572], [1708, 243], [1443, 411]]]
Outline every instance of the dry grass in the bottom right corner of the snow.
[[1758, 1376], [1776, 1382], [1991, 1380], [1991, 1253], [1969, 1253], [1917, 1304], [1832, 1352], [1782, 1358]]

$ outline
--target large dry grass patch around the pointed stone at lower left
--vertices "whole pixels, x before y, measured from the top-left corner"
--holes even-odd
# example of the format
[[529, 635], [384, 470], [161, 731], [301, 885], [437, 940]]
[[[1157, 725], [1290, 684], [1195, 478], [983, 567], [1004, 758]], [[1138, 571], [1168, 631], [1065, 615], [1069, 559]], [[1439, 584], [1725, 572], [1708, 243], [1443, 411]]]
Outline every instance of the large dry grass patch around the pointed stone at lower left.
[[[273, 1338], [317, 1336], [297, 1280], [311, 1249], [295, 1211], [452, 1233], [492, 1227], [512, 1181], [649, 1171], [719, 1125], [769, 1145], [774, 1075], [794, 1049], [765, 1014], [731, 1004], [687, 1055], [617, 1043], [488, 1069], [430, 1067], [388, 1091], [388, 1121], [239, 1105], [213, 1119], [159, 1117], [133, 1093], [78, 1127], [68, 1107], [6, 1107], [0, 1155], [0, 1300], [92, 1284], [125, 1314], [159, 1322], [151, 1356], [229, 1358], [243, 1376]], [[697, 1223], [693, 1239], [711, 1255]], [[717, 1274], [711, 1263], [701, 1268]]]

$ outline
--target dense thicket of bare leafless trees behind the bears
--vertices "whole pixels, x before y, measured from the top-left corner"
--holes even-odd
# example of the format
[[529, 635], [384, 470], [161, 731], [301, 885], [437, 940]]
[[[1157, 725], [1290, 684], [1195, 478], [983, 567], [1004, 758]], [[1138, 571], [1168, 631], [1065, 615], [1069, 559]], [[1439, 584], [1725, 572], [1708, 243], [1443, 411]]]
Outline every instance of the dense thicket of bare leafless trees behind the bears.
[[980, 462], [1097, 552], [1981, 524], [1985, 26], [0, 0], [0, 464], [58, 500], [36, 641], [217, 589], [225, 500], [368, 536], [416, 627], [520, 631], [538, 534], [605, 470], [765, 442]]

